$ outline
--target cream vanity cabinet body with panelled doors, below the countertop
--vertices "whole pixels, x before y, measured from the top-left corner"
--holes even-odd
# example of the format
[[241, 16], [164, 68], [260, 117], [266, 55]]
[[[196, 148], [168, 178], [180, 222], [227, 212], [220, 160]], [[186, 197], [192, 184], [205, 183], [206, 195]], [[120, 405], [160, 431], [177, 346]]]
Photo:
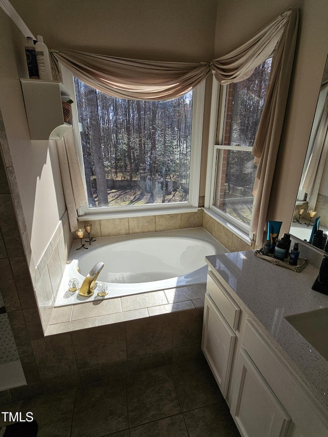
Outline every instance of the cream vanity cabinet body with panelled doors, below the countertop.
[[270, 334], [209, 270], [202, 350], [243, 437], [326, 437], [327, 414]]

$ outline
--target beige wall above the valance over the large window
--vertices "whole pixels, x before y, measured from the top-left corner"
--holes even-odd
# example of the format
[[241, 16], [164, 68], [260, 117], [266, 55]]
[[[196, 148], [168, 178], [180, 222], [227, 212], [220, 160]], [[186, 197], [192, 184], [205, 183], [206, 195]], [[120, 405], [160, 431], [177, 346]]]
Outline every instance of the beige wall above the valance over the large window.
[[51, 47], [171, 61], [212, 57], [217, 0], [12, 0]]

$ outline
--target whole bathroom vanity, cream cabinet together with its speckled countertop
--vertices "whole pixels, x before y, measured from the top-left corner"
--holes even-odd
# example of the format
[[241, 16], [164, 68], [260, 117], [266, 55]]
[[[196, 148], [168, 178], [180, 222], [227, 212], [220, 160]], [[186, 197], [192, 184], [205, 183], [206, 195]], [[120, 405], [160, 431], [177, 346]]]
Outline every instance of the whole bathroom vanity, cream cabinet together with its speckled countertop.
[[[226, 376], [223, 386], [218, 384], [240, 434], [328, 436], [328, 361], [285, 319], [328, 307], [328, 296], [311, 290], [318, 270], [309, 265], [301, 273], [292, 272], [255, 257], [253, 251], [210, 256], [207, 263], [203, 351], [217, 381], [215, 363], [227, 363], [226, 368], [218, 366]], [[211, 301], [212, 307], [207, 303]], [[227, 302], [240, 309], [235, 329]], [[209, 326], [209, 306], [223, 321], [212, 316]], [[229, 353], [220, 340], [227, 339], [227, 325], [235, 336]], [[212, 347], [204, 347], [208, 344]]]

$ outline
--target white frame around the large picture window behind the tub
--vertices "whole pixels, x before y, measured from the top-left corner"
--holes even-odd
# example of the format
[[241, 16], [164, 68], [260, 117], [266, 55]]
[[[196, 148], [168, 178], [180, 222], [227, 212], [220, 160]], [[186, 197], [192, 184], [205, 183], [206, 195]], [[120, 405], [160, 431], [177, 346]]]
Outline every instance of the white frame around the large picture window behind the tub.
[[[60, 66], [63, 84], [73, 96], [72, 119], [73, 131], [79, 159], [80, 171], [83, 184], [86, 190], [86, 179], [83, 163], [83, 154], [81, 148], [81, 139], [79, 132], [79, 122], [77, 116], [77, 106], [74, 89], [73, 74], [65, 67]], [[81, 206], [77, 211], [78, 219], [106, 219], [121, 217], [150, 216], [161, 214], [174, 214], [181, 212], [195, 212], [198, 210], [199, 203], [199, 186], [200, 186], [200, 159], [201, 144], [203, 133], [203, 113], [205, 98], [206, 80], [193, 89], [193, 109], [192, 109], [192, 134], [191, 134], [191, 153], [190, 153], [190, 182], [189, 182], [189, 200], [187, 202], [177, 203], [154, 203], [146, 205], [132, 206], [106, 206], [89, 208], [88, 202]]]

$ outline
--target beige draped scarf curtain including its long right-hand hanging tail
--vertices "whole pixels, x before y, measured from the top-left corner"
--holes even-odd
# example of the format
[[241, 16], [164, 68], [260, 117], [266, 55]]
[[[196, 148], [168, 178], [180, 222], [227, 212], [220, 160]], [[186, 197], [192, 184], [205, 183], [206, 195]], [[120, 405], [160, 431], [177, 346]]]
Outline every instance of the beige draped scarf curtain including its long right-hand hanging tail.
[[262, 244], [276, 157], [289, 90], [298, 27], [298, 10], [290, 9], [231, 53], [206, 63], [169, 63], [50, 49], [53, 76], [59, 64], [87, 85], [114, 97], [170, 100], [196, 87], [211, 72], [223, 85], [251, 76], [273, 53], [267, 99], [253, 148], [258, 165], [251, 232]]

